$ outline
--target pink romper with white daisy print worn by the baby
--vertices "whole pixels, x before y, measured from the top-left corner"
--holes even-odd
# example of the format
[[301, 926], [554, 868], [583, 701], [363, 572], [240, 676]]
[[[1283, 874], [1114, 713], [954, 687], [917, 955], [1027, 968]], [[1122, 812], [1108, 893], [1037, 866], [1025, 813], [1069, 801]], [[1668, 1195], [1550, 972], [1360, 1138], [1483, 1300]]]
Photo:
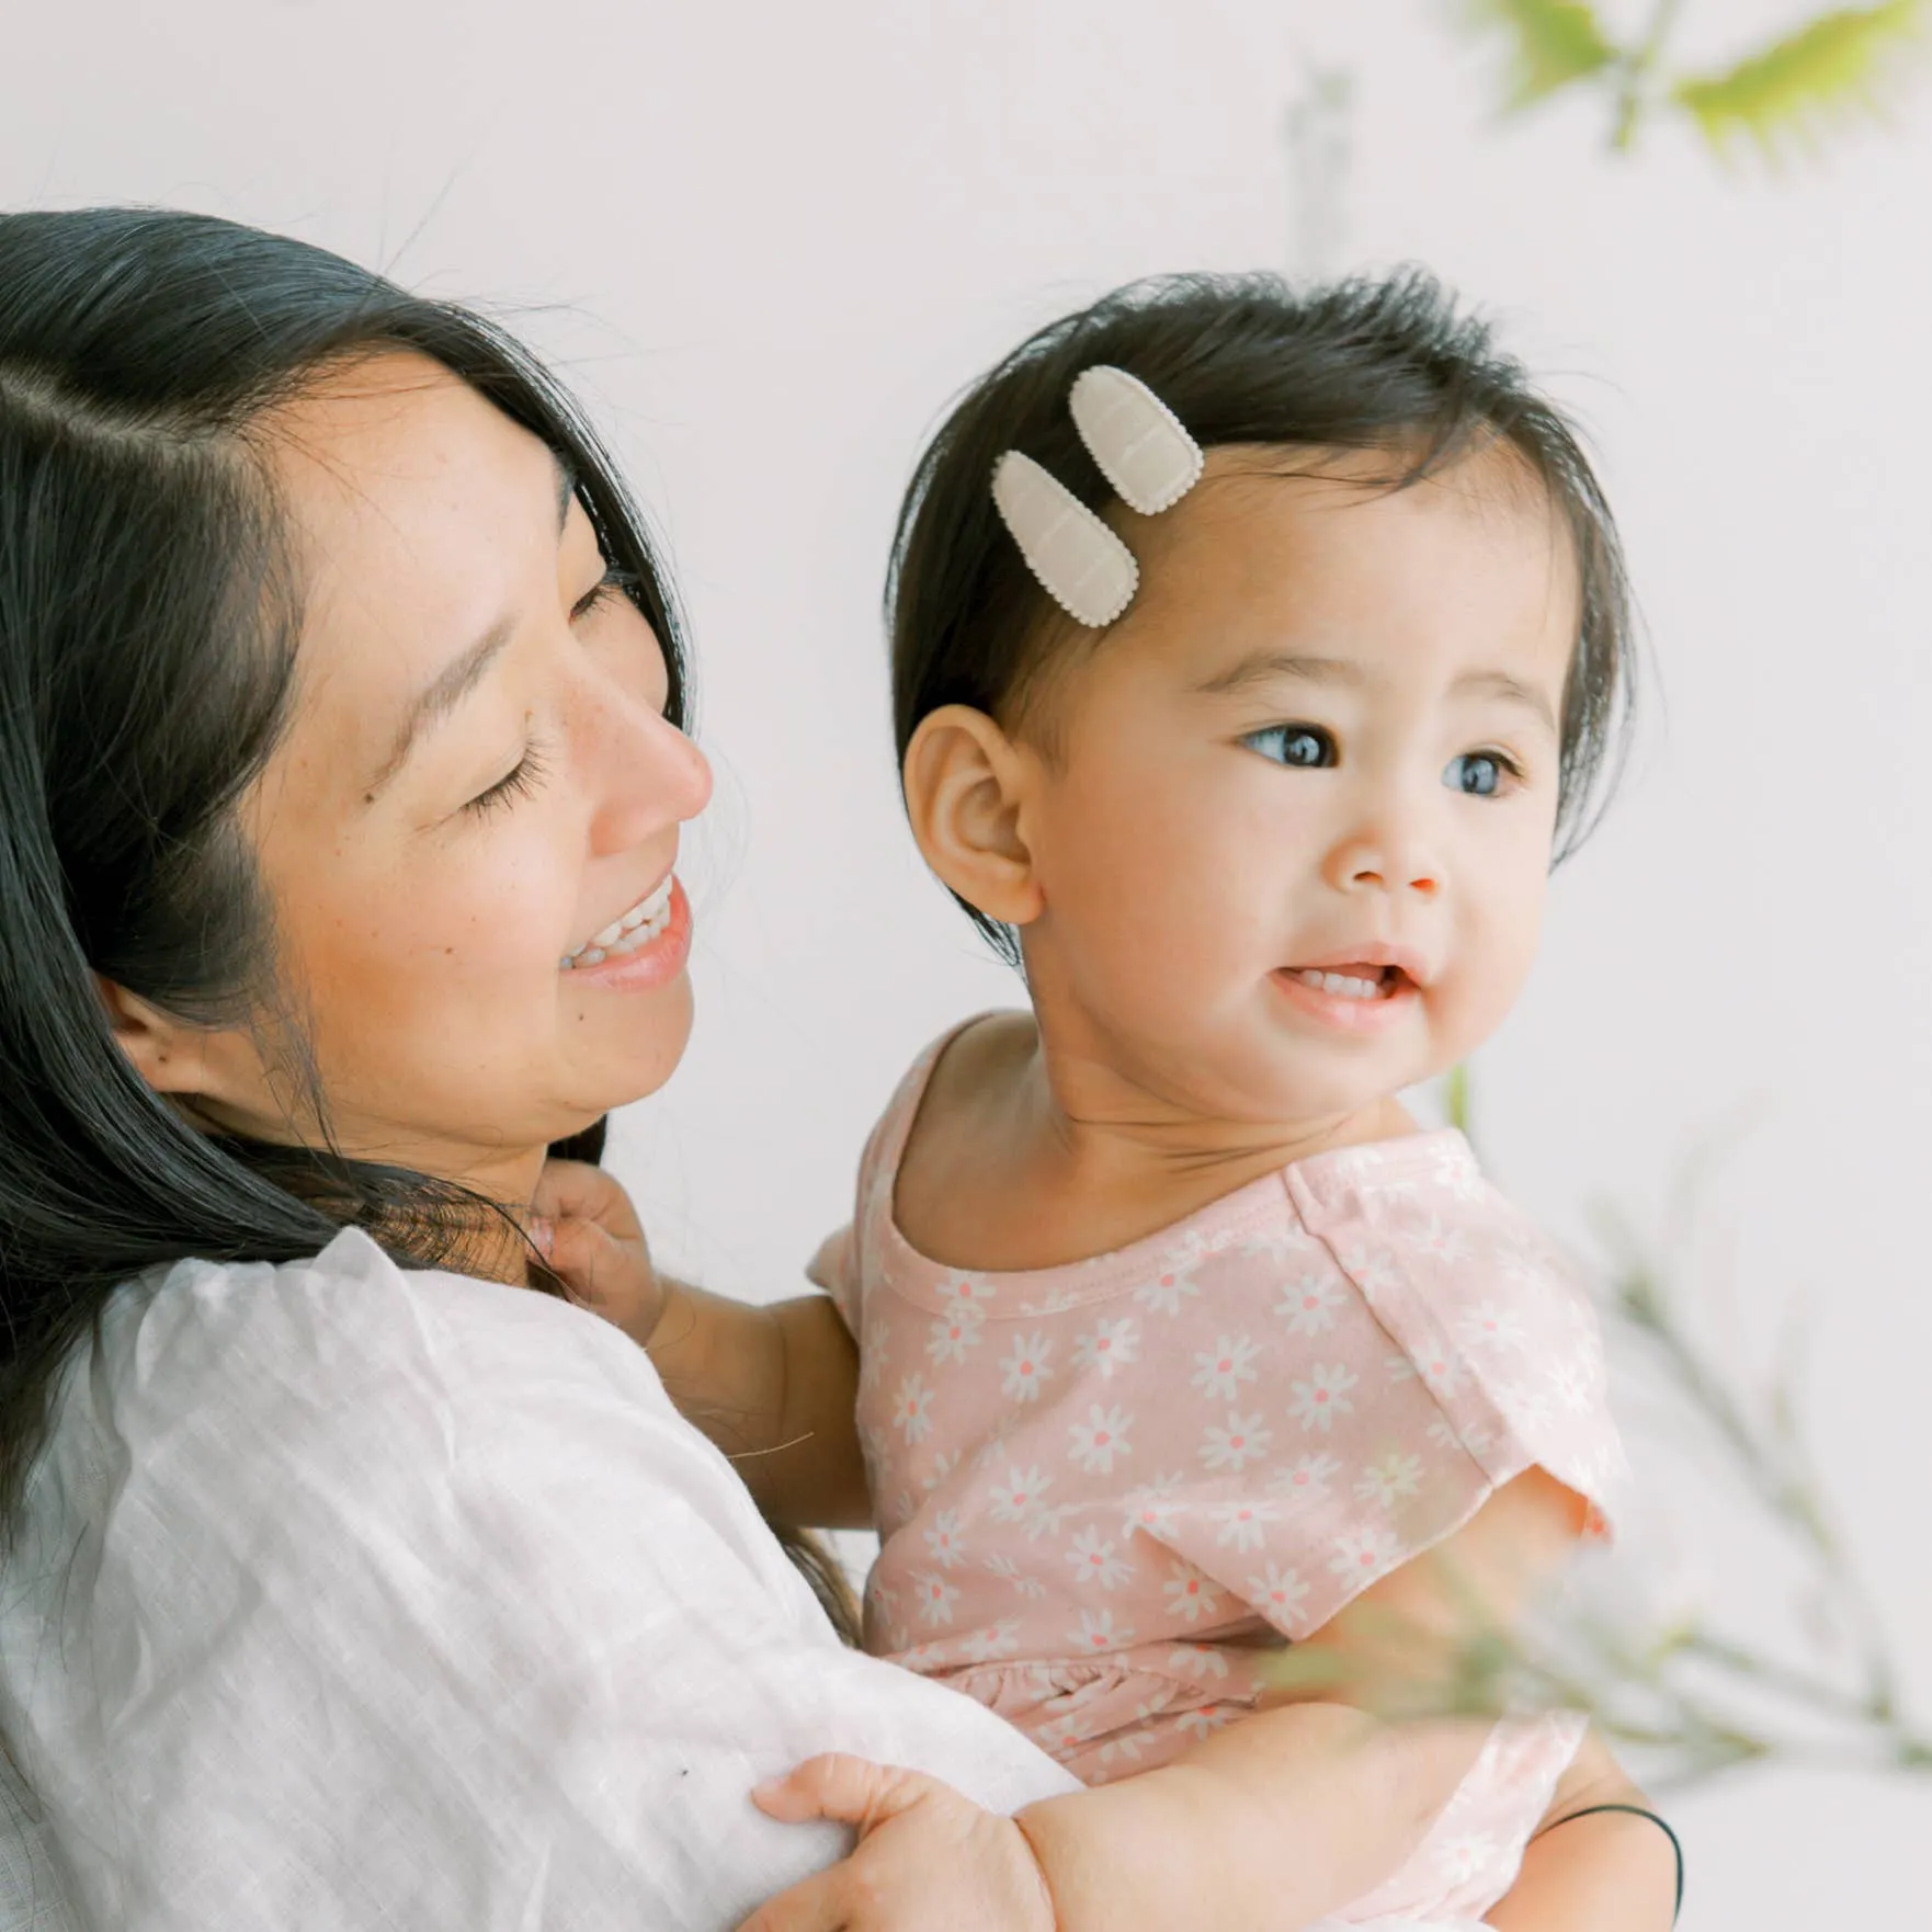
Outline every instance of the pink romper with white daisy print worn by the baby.
[[[1596, 1318], [1461, 1134], [1296, 1161], [1088, 1262], [968, 1273], [893, 1221], [945, 1045], [906, 1074], [856, 1219], [811, 1264], [860, 1343], [869, 1650], [1101, 1783], [1250, 1712], [1283, 1638], [1532, 1464], [1602, 1530], [1625, 1463]], [[1418, 1853], [1343, 1918], [1480, 1917], [1580, 1737], [1565, 1714], [1499, 1723]]]

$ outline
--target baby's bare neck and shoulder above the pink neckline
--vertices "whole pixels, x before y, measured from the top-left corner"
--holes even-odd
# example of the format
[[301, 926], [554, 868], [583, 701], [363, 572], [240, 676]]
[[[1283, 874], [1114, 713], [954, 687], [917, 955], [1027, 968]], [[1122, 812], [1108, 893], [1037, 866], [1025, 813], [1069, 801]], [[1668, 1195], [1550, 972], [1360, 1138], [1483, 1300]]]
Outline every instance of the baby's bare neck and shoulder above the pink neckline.
[[947, 1267], [1061, 1267], [1142, 1240], [1293, 1161], [1414, 1130], [1393, 1099], [1320, 1121], [1217, 1121], [1055, 1051], [1032, 1014], [960, 1034], [933, 1068], [895, 1190]]

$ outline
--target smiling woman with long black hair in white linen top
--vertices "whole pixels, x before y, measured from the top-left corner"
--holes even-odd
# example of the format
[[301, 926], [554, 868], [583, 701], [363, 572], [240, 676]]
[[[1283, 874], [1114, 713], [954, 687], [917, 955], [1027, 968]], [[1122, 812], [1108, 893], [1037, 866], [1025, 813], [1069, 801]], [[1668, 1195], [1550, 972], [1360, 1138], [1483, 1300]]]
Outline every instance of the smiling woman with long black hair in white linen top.
[[840, 1849], [748, 1799], [815, 1752], [1066, 1789], [526, 1238], [684, 1049], [684, 717], [497, 330], [0, 216], [0, 1733], [85, 1924], [723, 1932]]

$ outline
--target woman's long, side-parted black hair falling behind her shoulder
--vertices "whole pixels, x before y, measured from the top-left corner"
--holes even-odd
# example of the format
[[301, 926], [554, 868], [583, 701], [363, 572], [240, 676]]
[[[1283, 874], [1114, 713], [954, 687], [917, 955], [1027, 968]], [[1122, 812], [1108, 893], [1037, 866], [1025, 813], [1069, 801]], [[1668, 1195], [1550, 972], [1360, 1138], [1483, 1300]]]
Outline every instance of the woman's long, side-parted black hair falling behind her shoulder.
[[[234, 222], [0, 214], [0, 1513], [120, 1283], [187, 1256], [296, 1260], [346, 1225], [435, 1267], [483, 1208], [327, 1148], [197, 1132], [133, 1072], [97, 987], [238, 1024], [272, 985], [236, 806], [288, 723], [299, 583], [263, 427], [384, 350], [442, 363], [568, 464], [686, 723], [643, 520], [500, 328]], [[558, 1151], [599, 1150], [595, 1128]]]

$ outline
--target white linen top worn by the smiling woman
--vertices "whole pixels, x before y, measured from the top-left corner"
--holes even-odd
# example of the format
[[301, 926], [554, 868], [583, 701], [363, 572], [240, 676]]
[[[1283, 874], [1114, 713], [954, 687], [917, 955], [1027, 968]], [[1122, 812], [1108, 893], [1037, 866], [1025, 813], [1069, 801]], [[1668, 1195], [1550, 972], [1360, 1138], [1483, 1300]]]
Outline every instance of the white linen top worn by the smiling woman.
[[0, 1580], [0, 1729], [102, 1932], [728, 1932], [844, 1849], [746, 1797], [813, 1752], [1072, 1789], [838, 1644], [616, 1329], [359, 1233], [118, 1291]]

